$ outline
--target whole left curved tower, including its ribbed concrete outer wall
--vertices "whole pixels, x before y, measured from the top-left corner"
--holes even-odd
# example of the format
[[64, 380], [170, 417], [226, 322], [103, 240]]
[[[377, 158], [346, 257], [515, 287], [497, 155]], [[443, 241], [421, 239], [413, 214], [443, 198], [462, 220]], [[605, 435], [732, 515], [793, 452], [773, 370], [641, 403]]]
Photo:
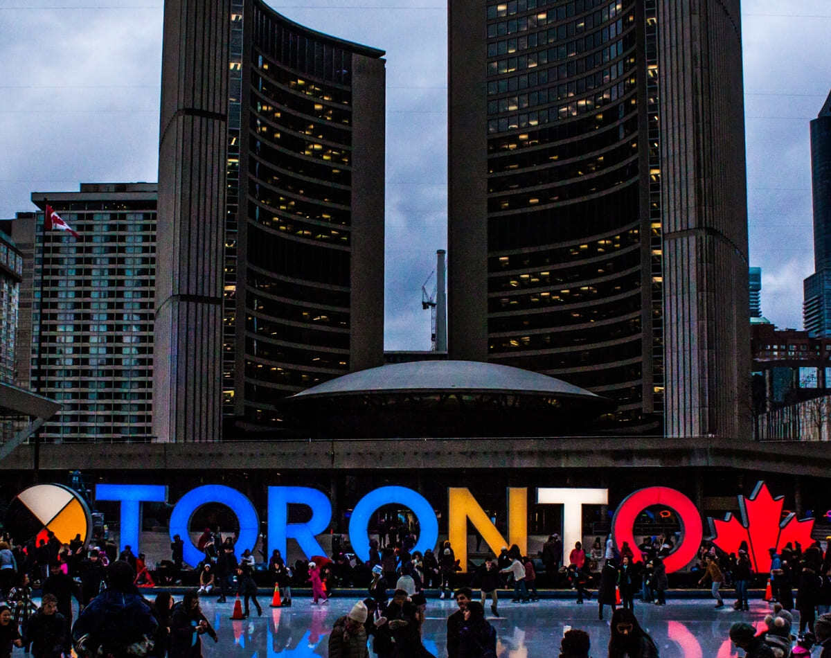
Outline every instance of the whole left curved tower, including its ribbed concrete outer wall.
[[[163, 127], [162, 155], [184, 155], [162, 160], [160, 189], [175, 181], [202, 196], [201, 205], [175, 206], [168, 230], [178, 241], [159, 263], [160, 278], [189, 292], [158, 300], [160, 312], [194, 307], [157, 331], [162, 440], [279, 425], [281, 397], [383, 361], [384, 53], [297, 25], [258, 0], [222, 7], [217, 22], [204, 3], [165, 3], [163, 99], [174, 96], [170, 83], [186, 86], [190, 62], [204, 62], [195, 71], [204, 92], [180, 93], [172, 120], [204, 124], [213, 141], [191, 145], [197, 133], [174, 141]], [[203, 107], [216, 93], [219, 108]]]

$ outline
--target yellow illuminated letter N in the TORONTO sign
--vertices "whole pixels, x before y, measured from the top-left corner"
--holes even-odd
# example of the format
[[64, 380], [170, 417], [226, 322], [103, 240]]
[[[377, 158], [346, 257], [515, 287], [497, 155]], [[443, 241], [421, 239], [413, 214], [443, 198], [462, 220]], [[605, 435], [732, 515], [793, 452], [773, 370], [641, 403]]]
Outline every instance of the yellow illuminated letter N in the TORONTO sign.
[[508, 489], [508, 541], [490, 523], [488, 515], [466, 487], [450, 487], [447, 503], [447, 537], [462, 571], [467, 571], [467, 522], [482, 535], [490, 550], [499, 553], [503, 546], [516, 544], [523, 555], [528, 550], [528, 489]]

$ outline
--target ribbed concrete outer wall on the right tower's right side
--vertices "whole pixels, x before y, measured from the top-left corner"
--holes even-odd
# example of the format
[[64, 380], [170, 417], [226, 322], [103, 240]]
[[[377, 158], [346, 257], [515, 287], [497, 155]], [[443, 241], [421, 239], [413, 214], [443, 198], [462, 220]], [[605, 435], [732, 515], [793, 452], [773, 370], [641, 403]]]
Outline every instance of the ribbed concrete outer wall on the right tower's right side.
[[663, 0], [660, 12], [665, 432], [748, 435], [739, 0]]

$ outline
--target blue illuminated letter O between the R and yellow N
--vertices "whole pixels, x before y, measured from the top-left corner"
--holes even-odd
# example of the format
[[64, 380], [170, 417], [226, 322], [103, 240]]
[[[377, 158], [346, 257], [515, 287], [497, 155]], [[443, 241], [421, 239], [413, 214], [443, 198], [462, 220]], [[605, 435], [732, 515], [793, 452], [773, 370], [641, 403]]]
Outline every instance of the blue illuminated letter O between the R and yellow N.
[[413, 552], [423, 554], [428, 548], [432, 550], [439, 540], [439, 521], [424, 496], [406, 487], [381, 487], [358, 501], [349, 520], [349, 542], [356, 556], [364, 562], [369, 560], [369, 535], [366, 533], [369, 519], [376, 509], [390, 503], [410, 508], [418, 519], [420, 533]]

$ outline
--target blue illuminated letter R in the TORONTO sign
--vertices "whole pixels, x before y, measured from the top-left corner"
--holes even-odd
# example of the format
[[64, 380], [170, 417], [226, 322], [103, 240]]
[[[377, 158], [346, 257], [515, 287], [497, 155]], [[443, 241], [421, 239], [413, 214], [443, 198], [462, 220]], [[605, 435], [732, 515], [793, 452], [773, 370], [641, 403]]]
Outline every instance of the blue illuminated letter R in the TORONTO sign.
[[[306, 523], [288, 523], [288, 504], [306, 505], [312, 509], [312, 518]], [[268, 487], [268, 554], [275, 548], [287, 559], [286, 540], [297, 540], [306, 557], [326, 555], [316, 534], [329, 527], [332, 503], [322, 491], [311, 487]]]

